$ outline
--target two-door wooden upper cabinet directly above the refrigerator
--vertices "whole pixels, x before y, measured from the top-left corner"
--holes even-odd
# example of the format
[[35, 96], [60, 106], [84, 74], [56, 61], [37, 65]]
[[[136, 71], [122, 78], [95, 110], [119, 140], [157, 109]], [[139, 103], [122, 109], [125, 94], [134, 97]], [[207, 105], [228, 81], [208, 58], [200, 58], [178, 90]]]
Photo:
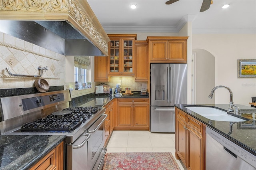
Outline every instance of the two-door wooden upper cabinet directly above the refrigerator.
[[150, 63], [186, 63], [188, 37], [148, 37]]

